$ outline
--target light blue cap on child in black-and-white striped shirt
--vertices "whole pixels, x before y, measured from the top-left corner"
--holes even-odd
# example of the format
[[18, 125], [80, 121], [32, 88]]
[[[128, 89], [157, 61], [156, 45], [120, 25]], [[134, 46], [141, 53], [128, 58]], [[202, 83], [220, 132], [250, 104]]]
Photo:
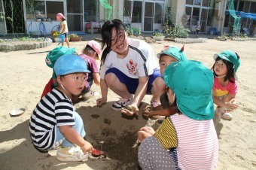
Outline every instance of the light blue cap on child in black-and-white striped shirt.
[[71, 54], [59, 57], [59, 59], [56, 60], [53, 69], [56, 76], [78, 72], [90, 73], [84, 59], [82, 59], [80, 56]]

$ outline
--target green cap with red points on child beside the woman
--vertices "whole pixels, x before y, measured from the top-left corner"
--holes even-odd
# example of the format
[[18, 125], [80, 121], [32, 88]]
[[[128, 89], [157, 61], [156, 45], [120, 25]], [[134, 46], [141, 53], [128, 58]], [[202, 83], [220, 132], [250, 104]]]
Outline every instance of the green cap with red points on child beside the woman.
[[187, 56], [184, 53], [184, 47], [179, 48], [175, 46], [165, 46], [165, 49], [161, 51], [161, 53], [157, 53], [157, 58], [160, 59], [162, 54], [166, 54], [167, 56], [171, 56], [177, 59], [178, 62], [187, 60]]

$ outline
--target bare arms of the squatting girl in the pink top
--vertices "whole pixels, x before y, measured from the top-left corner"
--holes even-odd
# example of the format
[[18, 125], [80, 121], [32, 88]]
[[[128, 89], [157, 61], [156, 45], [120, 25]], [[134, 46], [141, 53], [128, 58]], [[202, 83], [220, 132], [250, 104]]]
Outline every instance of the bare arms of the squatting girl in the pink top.
[[230, 102], [230, 100], [235, 99], [235, 97], [236, 95], [228, 93], [227, 96], [223, 100], [221, 100], [218, 99], [218, 97], [216, 96], [215, 90], [212, 90], [212, 99], [215, 105], [218, 105], [221, 108], [226, 108], [227, 111], [233, 111], [236, 108], [239, 108], [238, 105]]

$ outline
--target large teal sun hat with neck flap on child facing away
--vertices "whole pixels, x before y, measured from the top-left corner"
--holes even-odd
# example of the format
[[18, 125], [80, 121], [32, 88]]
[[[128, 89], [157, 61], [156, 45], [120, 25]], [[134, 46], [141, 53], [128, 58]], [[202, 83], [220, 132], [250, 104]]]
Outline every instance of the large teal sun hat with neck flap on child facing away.
[[166, 86], [175, 93], [181, 113], [194, 120], [214, 117], [213, 74], [201, 62], [172, 62], [163, 74]]

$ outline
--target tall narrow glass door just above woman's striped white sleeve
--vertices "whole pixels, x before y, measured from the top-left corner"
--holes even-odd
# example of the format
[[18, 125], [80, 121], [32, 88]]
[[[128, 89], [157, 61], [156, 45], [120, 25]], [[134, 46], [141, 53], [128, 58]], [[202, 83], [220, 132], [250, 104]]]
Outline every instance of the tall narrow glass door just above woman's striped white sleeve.
[[145, 2], [143, 19], [144, 19], [143, 32], [153, 32], [154, 2]]

